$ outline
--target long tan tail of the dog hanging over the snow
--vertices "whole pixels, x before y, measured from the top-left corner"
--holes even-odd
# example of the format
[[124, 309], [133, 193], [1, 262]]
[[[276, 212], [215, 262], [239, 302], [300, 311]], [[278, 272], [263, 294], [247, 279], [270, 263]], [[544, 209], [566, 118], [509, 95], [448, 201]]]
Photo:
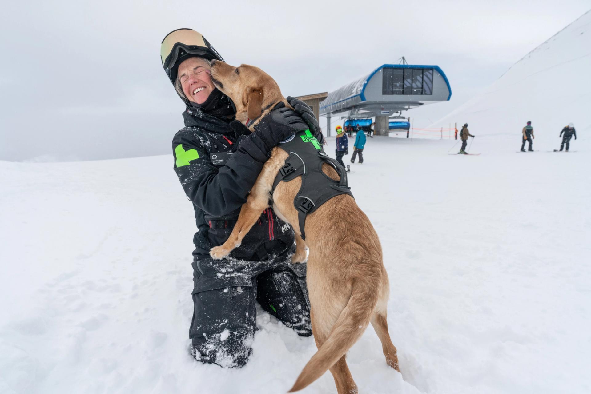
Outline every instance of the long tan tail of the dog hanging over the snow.
[[290, 393], [305, 388], [322, 376], [341, 357], [345, 356], [349, 348], [361, 337], [371, 320], [376, 302], [378, 302], [379, 286], [368, 282], [361, 278], [356, 278], [353, 281], [349, 302], [341, 312], [329, 337], [304, 366], [296, 383], [289, 390]]

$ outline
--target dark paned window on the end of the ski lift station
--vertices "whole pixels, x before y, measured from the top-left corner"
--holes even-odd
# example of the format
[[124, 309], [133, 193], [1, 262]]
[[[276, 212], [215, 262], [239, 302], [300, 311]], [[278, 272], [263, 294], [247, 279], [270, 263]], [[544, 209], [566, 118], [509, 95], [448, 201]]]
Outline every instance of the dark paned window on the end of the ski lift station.
[[433, 95], [433, 69], [382, 69], [382, 95]]

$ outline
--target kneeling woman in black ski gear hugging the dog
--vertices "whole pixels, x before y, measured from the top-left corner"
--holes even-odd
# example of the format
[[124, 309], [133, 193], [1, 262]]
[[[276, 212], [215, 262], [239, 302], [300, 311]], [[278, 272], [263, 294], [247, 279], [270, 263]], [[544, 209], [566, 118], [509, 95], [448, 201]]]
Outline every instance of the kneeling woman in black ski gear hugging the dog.
[[235, 120], [229, 97], [213, 86], [213, 59], [223, 61], [191, 29], [172, 31], [161, 44], [164, 71], [186, 106], [185, 126], [173, 138], [174, 171], [199, 228], [193, 237], [191, 354], [203, 363], [242, 367], [257, 329], [255, 300], [299, 335], [311, 335], [306, 265], [291, 263], [294, 232], [271, 208], [230, 258], [214, 261], [209, 250], [228, 239], [271, 149], [301, 129], [319, 141], [322, 135], [311, 109], [293, 97], [288, 102], [295, 112], [278, 104], [251, 133]]

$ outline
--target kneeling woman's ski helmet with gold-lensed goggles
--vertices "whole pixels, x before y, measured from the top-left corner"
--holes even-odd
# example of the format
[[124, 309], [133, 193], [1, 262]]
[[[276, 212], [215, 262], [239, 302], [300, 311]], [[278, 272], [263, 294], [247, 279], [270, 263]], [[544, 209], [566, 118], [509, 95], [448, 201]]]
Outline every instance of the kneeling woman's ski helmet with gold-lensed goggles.
[[170, 82], [177, 79], [178, 65], [190, 57], [207, 60], [221, 60], [222, 56], [199, 32], [192, 29], [173, 30], [164, 37], [160, 45], [160, 60]]

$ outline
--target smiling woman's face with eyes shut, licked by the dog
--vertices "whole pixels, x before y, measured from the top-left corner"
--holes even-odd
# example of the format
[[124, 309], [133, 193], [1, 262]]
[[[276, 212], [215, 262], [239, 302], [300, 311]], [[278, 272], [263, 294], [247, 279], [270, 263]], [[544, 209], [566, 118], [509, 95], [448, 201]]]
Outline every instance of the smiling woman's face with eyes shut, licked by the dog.
[[203, 104], [213, 92], [209, 64], [199, 57], [190, 57], [178, 66], [178, 79], [189, 101]]

